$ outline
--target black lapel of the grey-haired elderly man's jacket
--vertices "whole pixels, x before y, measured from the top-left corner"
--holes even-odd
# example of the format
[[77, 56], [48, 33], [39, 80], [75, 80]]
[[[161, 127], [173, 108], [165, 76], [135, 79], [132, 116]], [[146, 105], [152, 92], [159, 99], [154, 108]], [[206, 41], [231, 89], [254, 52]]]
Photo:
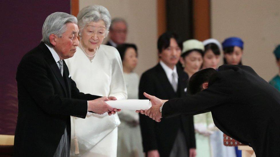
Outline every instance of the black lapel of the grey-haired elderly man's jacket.
[[[63, 77], [60, 73], [60, 70], [57, 66], [57, 63], [55, 62], [55, 59], [52, 57], [52, 54], [51, 54], [50, 50], [48, 49], [48, 47], [46, 47], [46, 45], [43, 42], [40, 43], [39, 47], [44, 51], [46, 61], [50, 65], [50, 68], [52, 69], [53, 73], [55, 74], [55, 77], [57, 78], [57, 80], [61, 84], [61, 86], [64, 90], [64, 93], [65, 93], [65, 96], [67, 96], [67, 90], [66, 90], [65, 82], [64, 82]], [[64, 64], [65, 64], [65, 62], [63, 63], [63, 65]], [[63, 68], [64, 68], [64, 66], [63, 66]]]

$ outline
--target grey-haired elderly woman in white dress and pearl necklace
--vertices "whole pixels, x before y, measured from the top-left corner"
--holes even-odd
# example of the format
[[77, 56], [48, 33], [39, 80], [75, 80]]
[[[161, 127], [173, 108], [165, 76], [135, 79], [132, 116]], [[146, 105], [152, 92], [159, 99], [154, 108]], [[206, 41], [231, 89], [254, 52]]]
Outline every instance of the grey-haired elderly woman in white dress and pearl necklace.
[[[114, 47], [101, 45], [111, 23], [109, 11], [100, 5], [88, 6], [77, 19], [80, 44], [65, 61], [72, 79], [81, 92], [127, 99], [120, 55]], [[71, 117], [71, 156], [115, 157], [119, 124], [117, 114], [88, 112], [86, 119]]]

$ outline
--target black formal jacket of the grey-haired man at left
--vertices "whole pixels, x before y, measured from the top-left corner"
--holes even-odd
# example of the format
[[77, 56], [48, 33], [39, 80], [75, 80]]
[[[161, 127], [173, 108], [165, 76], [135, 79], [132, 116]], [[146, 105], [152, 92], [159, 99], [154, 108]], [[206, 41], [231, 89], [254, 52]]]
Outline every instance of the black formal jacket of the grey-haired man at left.
[[15, 156], [53, 156], [70, 115], [85, 118], [86, 100], [100, 96], [79, 92], [63, 61], [63, 77], [46, 45], [29, 51], [17, 67], [18, 117]]

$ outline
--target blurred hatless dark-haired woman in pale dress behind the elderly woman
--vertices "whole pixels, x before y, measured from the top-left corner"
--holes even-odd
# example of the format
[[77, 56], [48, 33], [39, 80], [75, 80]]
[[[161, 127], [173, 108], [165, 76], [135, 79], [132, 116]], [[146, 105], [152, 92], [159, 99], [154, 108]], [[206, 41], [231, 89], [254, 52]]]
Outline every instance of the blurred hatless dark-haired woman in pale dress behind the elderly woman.
[[[123, 61], [123, 76], [127, 86], [127, 98], [138, 99], [139, 76], [133, 72], [137, 59], [137, 47], [134, 44], [122, 44], [117, 47]], [[121, 124], [118, 126], [118, 157], [144, 157], [139, 126], [139, 114], [132, 110], [118, 112]]]

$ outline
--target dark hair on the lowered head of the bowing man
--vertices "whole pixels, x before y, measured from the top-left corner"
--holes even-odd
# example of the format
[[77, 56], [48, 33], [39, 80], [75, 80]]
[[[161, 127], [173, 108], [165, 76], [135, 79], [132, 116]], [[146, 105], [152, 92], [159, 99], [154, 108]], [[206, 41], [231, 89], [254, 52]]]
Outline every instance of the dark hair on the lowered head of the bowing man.
[[217, 73], [213, 68], [206, 68], [200, 71], [197, 71], [190, 77], [188, 81], [188, 94], [194, 95], [202, 90], [202, 84], [209, 82], [210, 77]]

